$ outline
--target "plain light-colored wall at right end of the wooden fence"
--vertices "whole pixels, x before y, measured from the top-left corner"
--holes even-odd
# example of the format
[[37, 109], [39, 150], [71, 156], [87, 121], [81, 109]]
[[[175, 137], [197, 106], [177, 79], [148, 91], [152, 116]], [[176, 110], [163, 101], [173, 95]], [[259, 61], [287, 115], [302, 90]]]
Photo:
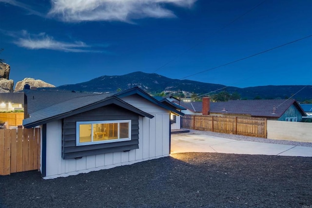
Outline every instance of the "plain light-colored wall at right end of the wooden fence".
[[269, 139], [312, 142], [312, 123], [267, 120]]

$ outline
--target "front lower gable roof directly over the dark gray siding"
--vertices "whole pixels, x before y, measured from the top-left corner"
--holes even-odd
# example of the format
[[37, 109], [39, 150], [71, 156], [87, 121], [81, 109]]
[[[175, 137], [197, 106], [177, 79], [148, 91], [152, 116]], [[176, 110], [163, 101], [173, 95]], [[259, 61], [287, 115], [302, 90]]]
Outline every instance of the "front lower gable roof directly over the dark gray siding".
[[47, 108], [41, 109], [34, 113], [31, 113], [31, 117], [23, 120], [23, 126], [26, 128], [35, 127], [47, 122], [62, 119], [77, 113], [90, 111], [102, 106], [115, 104], [129, 111], [137, 113], [141, 116], [153, 118], [154, 116], [145, 113], [132, 105], [120, 100], [116, 96], [109, 96], [107, 94], [94, 95], [94, 96], [82, 96], [72, 98], [65, 102], [61, 102]]

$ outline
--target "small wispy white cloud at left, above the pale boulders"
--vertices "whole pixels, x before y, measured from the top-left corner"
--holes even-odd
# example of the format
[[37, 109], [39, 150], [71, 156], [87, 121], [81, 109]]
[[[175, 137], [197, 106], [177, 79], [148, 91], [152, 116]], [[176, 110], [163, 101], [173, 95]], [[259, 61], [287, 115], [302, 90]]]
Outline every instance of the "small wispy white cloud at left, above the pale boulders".
[[88, 46], [84, 42], [62, 42], [55, 40], [53, 37], [46, 35], [45, 33], [39, 33], [38, 35], [29, 34], [27, 31], [23, 30], [21, 32], [22, 37], [18, 38], [14, 43], [20, 47], [28, 48], [32, 50], [38, 49], [48, 49], [64, 52], [93, 52], [100, 53], [100, 51], [89, 50], [91, 46]]

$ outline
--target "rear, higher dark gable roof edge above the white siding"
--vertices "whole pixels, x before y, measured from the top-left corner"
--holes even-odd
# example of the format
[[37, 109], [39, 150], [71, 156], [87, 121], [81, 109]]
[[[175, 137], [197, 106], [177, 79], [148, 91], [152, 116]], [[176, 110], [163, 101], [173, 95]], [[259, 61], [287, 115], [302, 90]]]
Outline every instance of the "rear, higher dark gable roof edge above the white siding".
[[141, 90], [138, 87], [134, 87], [134, 88], [131, 88], [129, 90], [117, 93], [117, 94], [115, 94], [115, 96], [121, 98], [121, 97], [130, 96], [130, 95], [136, 95], [136, 94], [140, 95], [141, 97], [144, 97], [145, 99], [147, 99], [150, 102], [158, 105], [159, 107], [162, 107], [164, 109], [167, 109], [167, 110], [171, 111], [171, 113], [174, 113], [174, 114], [177, 114], [177, 115], [184, 115], [184, 113], [181, 113], [181, 112], [177, 111], [176, 109], [173, 109], [173, 108], [171, 108], [171, 107], [169, 107], [169, 106], [159, 102], [154, 97], [152, 97], [151, 95], [148, 95], [147, 93], [145, 93], [143, 90]]

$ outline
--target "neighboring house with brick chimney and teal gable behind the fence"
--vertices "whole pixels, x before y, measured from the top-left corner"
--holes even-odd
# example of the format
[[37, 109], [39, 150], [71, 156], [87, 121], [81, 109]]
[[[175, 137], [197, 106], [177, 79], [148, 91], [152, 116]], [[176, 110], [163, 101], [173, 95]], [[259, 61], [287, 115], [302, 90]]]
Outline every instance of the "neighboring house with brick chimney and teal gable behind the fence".
[[[180, 102], [187, 108], [182, 113], [210, 114], [217, 116], [265, 117], [269, 120], [302, 121], [306, 113], [294, 99], [271, 100], [229, 100], [228, 102], [210, 102], [208, 97], [203, 102]], [[206, 109], [203, 111], [203, 109]]]

